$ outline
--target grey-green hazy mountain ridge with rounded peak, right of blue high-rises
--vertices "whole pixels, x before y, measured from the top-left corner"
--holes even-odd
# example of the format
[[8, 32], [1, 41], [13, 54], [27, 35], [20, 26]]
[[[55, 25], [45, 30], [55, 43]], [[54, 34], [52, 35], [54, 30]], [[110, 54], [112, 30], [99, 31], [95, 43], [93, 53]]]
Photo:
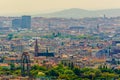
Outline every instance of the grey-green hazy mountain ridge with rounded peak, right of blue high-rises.
[[84, 17], [117, 17], [120, 16], [120, 9], [106, 10], [83, 10], [78, 8], [66, 9], [58, 12], [37, 14], [34, 16], [41, 17], [58, 17], [58, 18], [84, 18]]

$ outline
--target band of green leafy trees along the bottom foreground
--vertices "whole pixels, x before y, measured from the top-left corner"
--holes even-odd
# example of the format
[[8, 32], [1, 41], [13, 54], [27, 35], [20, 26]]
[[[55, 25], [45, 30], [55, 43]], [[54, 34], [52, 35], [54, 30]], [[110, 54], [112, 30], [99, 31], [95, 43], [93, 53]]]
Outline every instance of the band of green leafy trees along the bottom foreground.
[[[10, 67], [0, 67], [0, 75], [21, 76], [21, 68], [10, 64]], [[107, 66], [93, 68], [77, 68], [73, 63], [59, 64], [54, 67], [31, 66], [30, 77], [52, 78], [55, 80], [120, 80], [120, 69], [111, 69]]]

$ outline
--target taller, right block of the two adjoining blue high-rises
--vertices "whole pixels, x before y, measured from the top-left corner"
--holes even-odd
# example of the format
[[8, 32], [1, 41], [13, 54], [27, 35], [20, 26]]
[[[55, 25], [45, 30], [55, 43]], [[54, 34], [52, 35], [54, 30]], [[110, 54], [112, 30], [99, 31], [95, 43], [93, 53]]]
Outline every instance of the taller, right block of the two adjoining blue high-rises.
[[31, 28], [31, 16], [22, 16], [22, 28]]

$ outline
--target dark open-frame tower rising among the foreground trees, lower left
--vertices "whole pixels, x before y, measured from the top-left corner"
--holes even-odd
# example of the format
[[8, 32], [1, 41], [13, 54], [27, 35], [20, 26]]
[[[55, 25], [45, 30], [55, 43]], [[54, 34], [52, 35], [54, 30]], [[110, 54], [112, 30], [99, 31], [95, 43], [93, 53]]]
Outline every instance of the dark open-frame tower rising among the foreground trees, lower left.
[[21, 57], [21, 75], [30, 76], [30, 56], [28, 52], [23, 52]]

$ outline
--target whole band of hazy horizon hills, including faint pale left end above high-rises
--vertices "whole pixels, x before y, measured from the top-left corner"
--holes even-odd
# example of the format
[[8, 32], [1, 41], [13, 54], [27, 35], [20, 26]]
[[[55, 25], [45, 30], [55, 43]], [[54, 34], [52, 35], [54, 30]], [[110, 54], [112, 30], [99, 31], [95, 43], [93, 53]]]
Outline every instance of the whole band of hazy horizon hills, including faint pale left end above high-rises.
[[79, 8], [64, 9], [55, 12], [23, 12], [23, 13], [11, 13], [4, 14], [4, 16], [21, 16], [31, 15], [32, 17], [46, 17], [46, 18], [94, 18], [94, 17], [120, 17], [120, 9], [103, 9], [103, 10], [84, 10]]

